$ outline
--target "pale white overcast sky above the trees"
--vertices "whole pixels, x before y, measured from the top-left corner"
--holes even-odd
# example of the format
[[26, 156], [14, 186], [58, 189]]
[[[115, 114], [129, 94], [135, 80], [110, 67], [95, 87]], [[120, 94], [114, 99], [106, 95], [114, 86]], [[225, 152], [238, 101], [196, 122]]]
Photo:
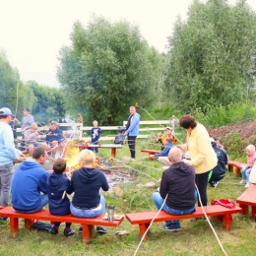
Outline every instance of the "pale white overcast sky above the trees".
[[[204, 0], [206, 1], [206, 0]], [[193, 0], [0, 0], [0, 50], [25, 83], [58, 87], [58, 52], [70, 45], [76, 21], [92, 15], [139, 27], [150, 46], [164, 51], [177, 16], [186, 19]], [[230, 4], [235, 0], [229, 0]], [[256, 12], [256, 0], [247, 0]]]

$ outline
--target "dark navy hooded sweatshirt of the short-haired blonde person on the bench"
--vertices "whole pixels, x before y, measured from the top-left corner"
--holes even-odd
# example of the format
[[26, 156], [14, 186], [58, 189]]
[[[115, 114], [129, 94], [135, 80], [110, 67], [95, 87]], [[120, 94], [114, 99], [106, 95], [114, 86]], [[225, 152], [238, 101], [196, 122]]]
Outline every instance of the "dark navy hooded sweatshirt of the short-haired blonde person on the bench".
[[74, 171], [71, 186], [75, 191], [72, 204], [74, 207], [94, 209], [99, 205], [99, 189], [109, 189], [105, 175], [95, 168], [82, 167]]

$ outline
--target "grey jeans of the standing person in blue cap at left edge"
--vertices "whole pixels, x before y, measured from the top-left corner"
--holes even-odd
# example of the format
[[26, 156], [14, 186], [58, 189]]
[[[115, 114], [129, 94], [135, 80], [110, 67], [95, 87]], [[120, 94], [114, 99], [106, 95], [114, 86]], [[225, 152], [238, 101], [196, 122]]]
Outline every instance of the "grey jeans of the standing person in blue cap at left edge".
[[13, 174], [13, 162], [0, 166], [0, 205], [4, 207], [8, 206]]

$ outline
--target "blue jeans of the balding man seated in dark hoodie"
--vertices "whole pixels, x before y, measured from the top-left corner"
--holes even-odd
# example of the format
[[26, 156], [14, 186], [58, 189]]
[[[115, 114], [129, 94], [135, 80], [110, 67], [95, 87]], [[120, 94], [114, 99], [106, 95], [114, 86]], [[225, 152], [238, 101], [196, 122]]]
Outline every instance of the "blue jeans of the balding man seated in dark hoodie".
[[[152, 196], [152, 200], [153, 200], [155, 206], [158, 208], [158, 210], [160, 210], [160, 207], [161, 207], [161, 205], [163, 204], [163, 201], [164, 201], [164, 199], [161, 198], [160, 193], [155, 192]], [[172, 208], [168, 207], [166, 205], [166, 203], [163, 205], [161, 210], [163, 210], [164, 212], [166, 212], [167, 214], [170, 214], [170, 215], [188, 215], [188, 214], [192, 214], [196, 211], [195, 207], [193, 207], [191, 209], [187, 209], [187, 210], [175, 210], [175, 209], [172, 209]], [[174, 224], [174, 223], [179, 224], [179, 221], [165, 222], [166, 225]]]

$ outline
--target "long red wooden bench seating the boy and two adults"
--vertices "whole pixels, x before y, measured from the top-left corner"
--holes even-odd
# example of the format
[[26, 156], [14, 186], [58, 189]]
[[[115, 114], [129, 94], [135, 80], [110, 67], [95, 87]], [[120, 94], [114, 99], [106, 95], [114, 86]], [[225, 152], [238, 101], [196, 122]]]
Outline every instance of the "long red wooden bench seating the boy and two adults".
[[72, 216], [71, 214], [65, 216], [54, 216], [51, 215], [46, 209], [43, 209], [34, 214], [21, 214], [17, 213], [11, 206], [1, 209], [0, 216], [10, 218], [10, 231], [13, 237], [16, 237], [19, 232], [19, 219], [25, 219], [25, 226], [30, 230], [32, 229], [32, 220], [82, 224], [83, 241], [85, 244], [87, 244], [90, 239], [95, 238], [95, 225], [118, 226], [123, 222], [124, 219], [122, 217], [118, 221], [115, 220], [113, 221], [113, 223], [108, 223], [107, 220], [102, 219], [103, 215], [98, 216], [94, 219], [77, 218]]

